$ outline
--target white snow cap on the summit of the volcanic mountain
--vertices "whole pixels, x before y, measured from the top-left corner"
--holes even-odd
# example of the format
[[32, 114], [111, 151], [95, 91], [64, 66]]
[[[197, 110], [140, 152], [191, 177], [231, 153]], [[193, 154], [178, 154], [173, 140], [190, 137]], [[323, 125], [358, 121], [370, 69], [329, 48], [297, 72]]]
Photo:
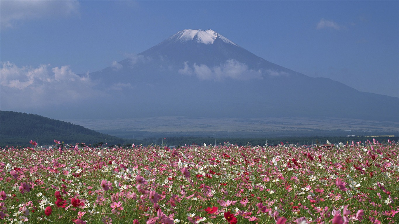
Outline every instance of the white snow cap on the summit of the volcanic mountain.
[[169, 40], [172, 40], [174, 42], [182, 42], [182, 43], [189, 42], [189, 41], [195, 41], [197, 43], [213, 44], [213, 42], [217, 38], [221, 39], [225, 43], [230, 43], [232, 45], [236, 45], [235, 43], [233, 43], [233, 41], [227, 39], [226, 37], [223, 37], [222, 35], [220, 35], [219, 33], [215, 32], [211, 29], [207, 29], [207, 30], [184, 29], [184, 30], [176, 33], [172, 37], [170, 37]]

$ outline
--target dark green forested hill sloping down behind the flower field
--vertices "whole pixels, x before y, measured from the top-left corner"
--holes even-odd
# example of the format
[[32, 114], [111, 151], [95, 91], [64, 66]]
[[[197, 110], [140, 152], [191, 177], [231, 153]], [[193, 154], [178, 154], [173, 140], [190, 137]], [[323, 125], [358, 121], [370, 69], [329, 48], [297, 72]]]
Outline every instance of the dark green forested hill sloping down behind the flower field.
[[53, 145], [54, 140], [73, 145], [82, 142], [93, 145], [104, 141], [110, 145], [125, 141], [61, 120], [0, 110], [0, 146], [29, 145], [30, 140], [37, 140], [39, 145]]

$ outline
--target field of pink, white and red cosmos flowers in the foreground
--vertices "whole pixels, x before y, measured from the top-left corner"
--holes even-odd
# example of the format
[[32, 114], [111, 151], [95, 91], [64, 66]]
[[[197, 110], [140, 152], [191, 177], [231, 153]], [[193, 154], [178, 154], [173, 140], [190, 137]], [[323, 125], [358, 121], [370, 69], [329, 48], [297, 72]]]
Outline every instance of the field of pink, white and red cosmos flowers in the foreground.
[[31, 143], [0, 149], [0, 223], [399, 220], [399, 145], [390, 141], [107, 149], [55, 141], [55, 150]]

